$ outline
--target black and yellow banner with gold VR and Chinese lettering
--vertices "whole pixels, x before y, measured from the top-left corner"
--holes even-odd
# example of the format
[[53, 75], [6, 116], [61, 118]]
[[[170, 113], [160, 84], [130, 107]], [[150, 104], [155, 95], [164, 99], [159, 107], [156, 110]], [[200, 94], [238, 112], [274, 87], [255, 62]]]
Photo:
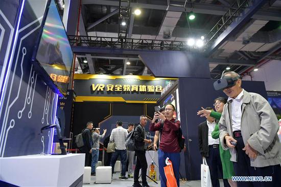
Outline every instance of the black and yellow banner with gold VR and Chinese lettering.
[[176, 80], [152, 76], [75, 74], [74, 91], [76, 102], [156, 103], [163, 87]]

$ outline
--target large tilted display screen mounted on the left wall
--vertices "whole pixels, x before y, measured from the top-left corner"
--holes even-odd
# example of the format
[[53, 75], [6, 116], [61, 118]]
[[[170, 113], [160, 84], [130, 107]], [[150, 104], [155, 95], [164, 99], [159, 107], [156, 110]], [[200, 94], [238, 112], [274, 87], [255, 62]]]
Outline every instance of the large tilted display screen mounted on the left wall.
[[[55, 84], [58, 88], [54, 88], [55, 92], [65, 95], [72, 68], [73, 52], [55, 1], [51, 0], [48, 5], [37, 53], [33, 61], [36, 62], [37, 70], [40, 71], [39, 65], [49, 75], [49, 77], [43, 76], [44, 80], [49, 79], [45, 82]], [[40, 72], [40, 74], [44, 74], [44, 72]], [[50, 86], [54, 87], [54, 85]]]

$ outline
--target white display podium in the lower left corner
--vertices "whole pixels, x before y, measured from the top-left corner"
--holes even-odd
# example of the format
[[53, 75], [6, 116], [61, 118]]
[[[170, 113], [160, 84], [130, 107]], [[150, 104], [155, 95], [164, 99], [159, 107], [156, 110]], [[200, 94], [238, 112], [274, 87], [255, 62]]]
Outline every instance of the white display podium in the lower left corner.
[[18, 186], [82, 186], [84, 162], [85, 154], [4, 157], [0, 180]]

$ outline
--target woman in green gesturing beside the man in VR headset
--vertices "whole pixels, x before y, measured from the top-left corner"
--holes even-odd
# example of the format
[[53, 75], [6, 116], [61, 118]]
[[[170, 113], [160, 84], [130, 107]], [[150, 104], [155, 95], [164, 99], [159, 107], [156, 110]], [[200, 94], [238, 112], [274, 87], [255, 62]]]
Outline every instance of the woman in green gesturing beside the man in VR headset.
[[[215, 118], [216, 120], [220, 120], [221, 113], [223, 111], [223, 106], [227, 102], [227, 100], [223, 97], [215, 99], [214, 107], [216, 109], [215, 111], [206, 110], [205, 108], [201, 107], [202, 110], [199, 110], [197, 112], [197, 115], [200, 115], [200, 117], [210, 115], [211, 117]], [[219, 138], [220, 136], [220, 130], [219, 130], [219, 123], [215, 126], [214, 131], [212, 132], [212, 137], [214, 139]], [[236, 187], [237, 182], [232, 181], [231, 177], [235, 176], [234, 170], [233, 170], [233, 163], [230, 161], [230, 153], [229, 150], [223, 150], [221, 147], [221, 144], [219, 145], [220, 149], [220, 156], [221, 156], [221, 162], [222, 162], [222, 171], [223, 171], [223, 178], [228, 180], [228, 183], [231, 187]]]

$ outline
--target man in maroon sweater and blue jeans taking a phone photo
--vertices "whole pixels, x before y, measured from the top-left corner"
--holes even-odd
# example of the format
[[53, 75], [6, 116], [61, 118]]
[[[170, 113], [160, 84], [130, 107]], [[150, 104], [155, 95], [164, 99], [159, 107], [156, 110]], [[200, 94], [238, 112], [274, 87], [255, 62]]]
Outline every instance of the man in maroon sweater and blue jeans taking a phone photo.
[[163, 121], [158, 123], [151, 123], [149, 126], [150, 131], [160, 131], [160, 144], [158, 149], [158, 163], [159, 174], [161, 180], [161, 187], [167, 186], [167, 179], [164, 172], [166, 166], [165, 160], [167, 157], [173, 163], [173, 171], [179, 186], [179, 165], [180, 165], [180, 151], [178, 139], [178, 131], [180, 130], [180, 121], [173, 118], [175, 107], [172, 104], [167, 104], [165, 107], [165, 115], [161, 112], [155, 112], [153, 121], [160, 119]]

